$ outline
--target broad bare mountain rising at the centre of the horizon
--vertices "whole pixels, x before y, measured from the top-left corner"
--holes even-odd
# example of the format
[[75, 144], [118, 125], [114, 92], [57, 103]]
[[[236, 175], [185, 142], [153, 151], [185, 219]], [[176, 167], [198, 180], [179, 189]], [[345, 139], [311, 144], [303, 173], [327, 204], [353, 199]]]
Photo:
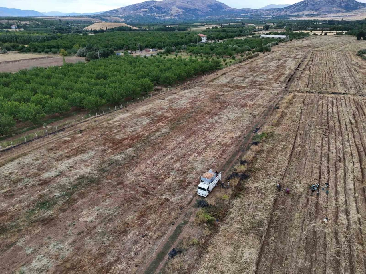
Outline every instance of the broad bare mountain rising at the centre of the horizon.
[[203, 17], [239, 13], [239, 9], [231, 8], [216, 0], [163, 0], [145, 1], [128, 5], [101, 15], [112, 16], [158, 16], [158, 17]]

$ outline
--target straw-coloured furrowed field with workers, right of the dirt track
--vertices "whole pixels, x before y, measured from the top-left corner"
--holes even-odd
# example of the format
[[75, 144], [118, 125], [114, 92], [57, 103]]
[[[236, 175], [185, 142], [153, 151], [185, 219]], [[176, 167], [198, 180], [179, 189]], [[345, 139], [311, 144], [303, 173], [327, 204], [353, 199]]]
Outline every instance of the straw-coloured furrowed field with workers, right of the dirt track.
[[[338, 40], [342, 50], [337, 52], [329, 52], [335, 45], [324, 44], [325, 39], [311, 37], [289, 46], [301, 49], [316, 41], [303, 48], [298, 68], [313, 60], [313, 48], [319, 61], [312, 67], [319, 73], [330, 71], [338, 58], [346, 68], [355, 64], [348, 54], [356, 45], [350, 38]], [[365, 63], [359, 66], [363, 69]], [[326, 91], [327, 83], [306, 91]], [[196, 273], [365, 273], [365, 113], [361, 96], [295, 92], [278, 126], [263, 129], [272, 137], [248, 167], [250, 178], [240, 182], [245, 191], [232, 201], [227, 221], [210, 241]], [[319, 192], [312, 193], [317, 183]]]

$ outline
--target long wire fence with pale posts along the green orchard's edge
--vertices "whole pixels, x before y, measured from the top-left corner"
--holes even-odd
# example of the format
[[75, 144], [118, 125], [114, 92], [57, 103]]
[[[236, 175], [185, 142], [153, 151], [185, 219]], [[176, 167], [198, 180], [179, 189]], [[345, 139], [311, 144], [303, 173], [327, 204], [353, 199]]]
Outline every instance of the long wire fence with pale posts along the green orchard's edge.
[[184, 81], [183, 83], [178, 83], [177, 85], [172, 85], [172, 86], [169, 86], [167, 88], [163, 88], [162, 90], [160, 90], [158, 92], [152, 92], [150, 94], [132, 99], [130, 101], [125, 101], [122, 104], [120, 104], [119, 106], [114, 106], [114, 107], [112, 106], [112, 107], [108, 107], [108, 109], [104, 108], [104, 109], [98, 110], [98, 111], [95, 112], [95, 115], [94, 115], [94, 113], [89, 113], [89, 114], [86, 114], [84, 116], [76, 117], [75, 119], [70, 119], [70, 120], [65, 121], [63, 123], [60, 123], [59, 125], [46, 126], [46, 128], [44, 128], [44, 129], [38, 130], [36, 132], [29, 133], [27, 135], [24, 135], [24, 136], [16, 138], [16, 139], [2, 141], [2, 142], [0, 142], [0, 152], [10, 150], [10, 149], [15, 148], [17, 146], [27, 144], [27, 143], [33, 142], [35, 140], [38, 140], [38, 139], [41, 139], [41, 138], [44, 138], [44, 137], [47, 137], [47, 136], [51, 136], [51, 135], [59, 133], [59, 132], [63, 132], [67, 128], [75, 127], [76, 125], [79, 125], [81, 123], [89, 121], [90, 119], [94, 119], [96, 117], [101, 117], [103, 115], [107, 115], [109, 113], [121, 110], [121, 109], [126, 108], [128, 106], [131, 106], [133, 104], [141, 103], [141, 102], [143, 102], [143, 101], [145, 101], [149, 98], [153, 98], [155, 96], [165, 94], [168, 91], [172, 91], [172, 90], [175, 90], [176, 88], [194, 83], [194, 82], [199, 81], [199, 80], [202, 80], [203, 78], [205, 78], [207, 76], [210, 76], [210, 75], [213, 75], [214, 73], [219, 72], [222, 69], [225, 69], [225, 68], [227, 68], [229, 66], [232, 66], [232, 65], [235, 65], [235, 64], [239, 64], [240, 62], [249, 60], [251, 58], [257, 57], [258, 55], [259, 55], [259, 53], [251, 54], [251, 55], [246, 56], [246, 57], [244, 57], [240, 60], [236, 60], [236, 61], [234, 61], [230, 64], [223, 65], [220, 68], [215, 69], [214, 71], [208, 72], [208, 73], [206, 73], [202, 76], [195, 77], [194, 79], [190, 79], [190, 80]]

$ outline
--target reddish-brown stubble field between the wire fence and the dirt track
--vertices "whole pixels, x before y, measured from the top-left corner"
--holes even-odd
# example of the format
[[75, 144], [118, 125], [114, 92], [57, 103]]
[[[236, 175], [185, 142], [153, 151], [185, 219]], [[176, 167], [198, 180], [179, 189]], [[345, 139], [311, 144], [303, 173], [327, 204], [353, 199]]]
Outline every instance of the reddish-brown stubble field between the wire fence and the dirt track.
[[81, 134], [70, 129], [1, 153], [6, 273], [35, 271], [40, 259], [48, 273], [142, 271], [195, 197], [199, 176], [227, 169], [243, 134], [273, 109], [295, 56], [261, 54], [211, 81], [86, 122]]

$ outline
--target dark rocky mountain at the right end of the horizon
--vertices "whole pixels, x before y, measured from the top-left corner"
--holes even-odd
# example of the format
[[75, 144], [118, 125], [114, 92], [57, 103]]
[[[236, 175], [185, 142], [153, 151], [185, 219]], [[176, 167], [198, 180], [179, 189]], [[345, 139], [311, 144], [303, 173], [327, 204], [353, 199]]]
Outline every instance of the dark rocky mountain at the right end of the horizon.
[[333, 14], [366, 8], [365, 3], [355, 0], [304, 0], [277, 11], [274, 15]]

